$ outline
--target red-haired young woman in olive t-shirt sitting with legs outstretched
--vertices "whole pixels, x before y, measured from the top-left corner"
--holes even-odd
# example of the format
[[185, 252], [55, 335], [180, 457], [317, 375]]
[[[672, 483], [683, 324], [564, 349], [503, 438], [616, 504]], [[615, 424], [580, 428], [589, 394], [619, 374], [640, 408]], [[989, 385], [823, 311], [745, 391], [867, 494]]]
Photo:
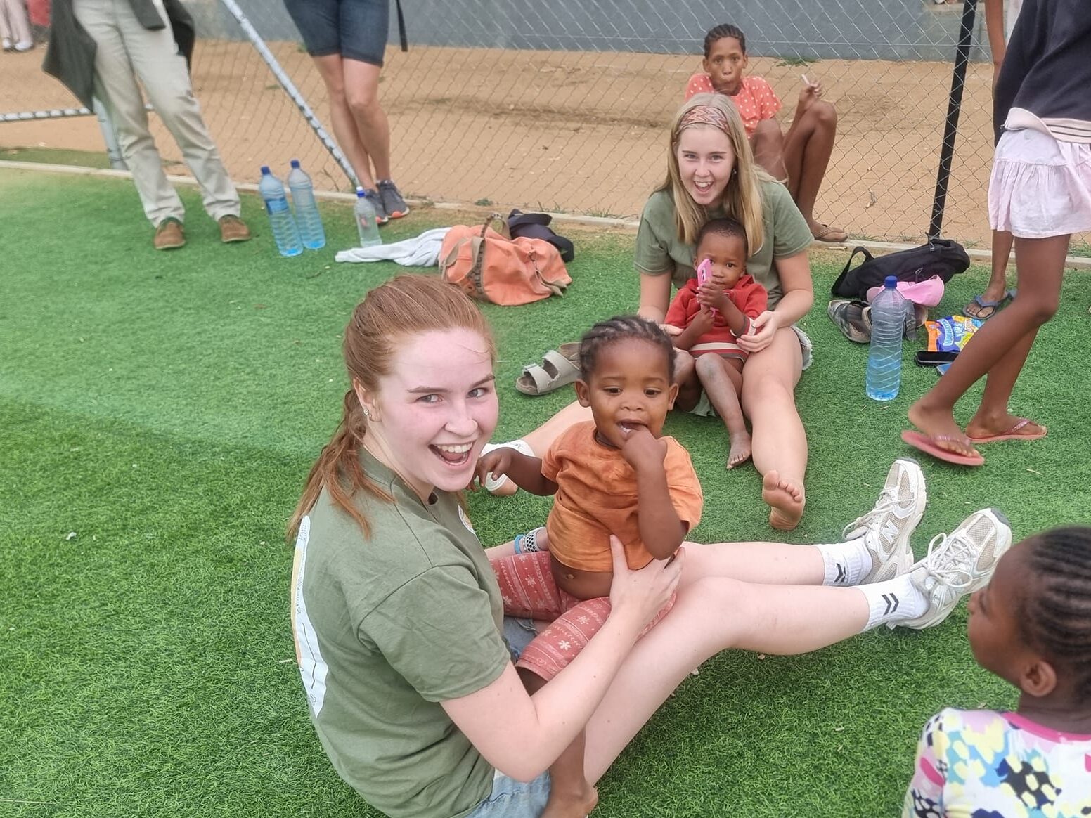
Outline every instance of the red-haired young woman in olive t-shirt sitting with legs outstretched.
[[[392, 818], [587, 815], [595, 782], [708, 657], [938, 624], [1011, 542], [979, 512], [914, 564], [926, 494], [909, 460], [846, 542], [685, 543], [673, 562], [630, 570], [612, 538], [609, 615], [531, 696], [512, 654], [533, 631], [503, 619], [489, 562], [513, 545], [482, 550], [459, 502], [496, 425], [484, 318], [439, 278], [400, 276], [352, 312], [344, 353], [341, 422], [289, 526], [292, 629], [323, 748]], [[551, 794], [547, 768], [584, 730], [588, 783]]]

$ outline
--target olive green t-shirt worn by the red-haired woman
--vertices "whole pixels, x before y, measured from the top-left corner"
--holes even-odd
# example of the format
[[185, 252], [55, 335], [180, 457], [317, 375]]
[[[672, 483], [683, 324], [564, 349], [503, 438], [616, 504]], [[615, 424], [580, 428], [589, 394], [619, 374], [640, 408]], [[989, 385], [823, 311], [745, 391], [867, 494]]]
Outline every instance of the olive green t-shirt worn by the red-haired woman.
[[368, 454], [393, 503], [358, 493], [371, 525], [323, 492], [303, 519], [292, 629], [311, 721], [334, 768], [398, 818], [455, 818], [493, 768], [441, 701], [480, 690], [511, 662], [496, 578], [454, 494], [420, 498]]

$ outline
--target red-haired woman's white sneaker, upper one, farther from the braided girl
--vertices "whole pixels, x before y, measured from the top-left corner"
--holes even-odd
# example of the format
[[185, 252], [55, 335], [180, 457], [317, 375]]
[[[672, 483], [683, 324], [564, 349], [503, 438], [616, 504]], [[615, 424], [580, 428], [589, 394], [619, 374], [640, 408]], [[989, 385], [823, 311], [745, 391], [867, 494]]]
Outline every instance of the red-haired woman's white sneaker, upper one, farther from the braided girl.
[[872, 554], [872, 569], [859, 585], [883, 582], [910, 569], [913, 549], [909, 538], [924, 516], [927, 502], [924, 472], [916, 460], [895, 460], [875, 507], [844, 527], [846, 542], [862, 537]]

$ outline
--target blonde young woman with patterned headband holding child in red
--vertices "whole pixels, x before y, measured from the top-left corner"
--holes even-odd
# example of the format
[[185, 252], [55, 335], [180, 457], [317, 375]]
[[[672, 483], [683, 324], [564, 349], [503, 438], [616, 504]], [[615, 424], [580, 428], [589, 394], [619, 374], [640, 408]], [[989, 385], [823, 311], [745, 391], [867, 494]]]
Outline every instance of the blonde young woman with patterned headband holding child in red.
[[[795, 322], [814, 302], [806, 253], [813, 237], [788, 189], [755, 164], [731, 100], [721, 94], [697, 94], [674, 117], [667, 179], [640, 215], [634, 262], [643, 317], [663, 322], [672, 284], [681, 286], [696, 276], [697, 231], [720, 216], [746, 229], [746, 272], [769, 291], [769, 309], [754, 321], [753, 334], [739, 339], [751, 353], [743, 370], [742, 407], [753, 426], [753, 459], [763, 474], [769, 525], [790, 530], [799, 525], [806, 502], [807, 438], [794, 392], [811, 363], [811, 341]], [[681, 375], [694, 365], [687, 353], [680, 353]], [[675, 406], [698, 413], [710, 410], [699, 393], [680, 394]], [[541, 455], [561, 432], [589, 419], [588, 410], [574, 404], [517, 443]]]

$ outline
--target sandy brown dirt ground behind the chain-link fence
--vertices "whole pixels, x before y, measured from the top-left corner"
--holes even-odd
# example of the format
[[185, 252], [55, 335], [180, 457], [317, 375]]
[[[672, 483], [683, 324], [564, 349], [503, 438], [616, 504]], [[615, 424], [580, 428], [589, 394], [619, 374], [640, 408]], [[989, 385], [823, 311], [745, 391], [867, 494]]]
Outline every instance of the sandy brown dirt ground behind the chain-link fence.
[[[328, 123], [325, 93], [295, 43], [271, 44]], [[43, 50], [0, 55], [0, 113], [70, 107], [40, 71]], [[394, 177], [407, 195], [595, 216], [635, 217], [666, 170], [667, 128], [695, 57], [413, 46], [387, 50], [380, 85], [389, 115]], [[987, 246], [992, 155], [991, 65], [967, 79], [944, 234]], [[838, 137], [816, 215], [854, 237], [919, 241], [932, 210], [950, 65], [838, 61], [786, 64], [753, 58], [784, 103], [787, 128], [800, 74], [820, 80], [838, 110]], [[232, 178], [298, 157], [325, 189], [348, 182], [303, 117], [245, 43], [199, 44], [193, 84]], [[185, 172], [169, 134], [153, 133], [170, 172]], [[0, 146], [103, 151], [93, 117], [0, 122]]]

